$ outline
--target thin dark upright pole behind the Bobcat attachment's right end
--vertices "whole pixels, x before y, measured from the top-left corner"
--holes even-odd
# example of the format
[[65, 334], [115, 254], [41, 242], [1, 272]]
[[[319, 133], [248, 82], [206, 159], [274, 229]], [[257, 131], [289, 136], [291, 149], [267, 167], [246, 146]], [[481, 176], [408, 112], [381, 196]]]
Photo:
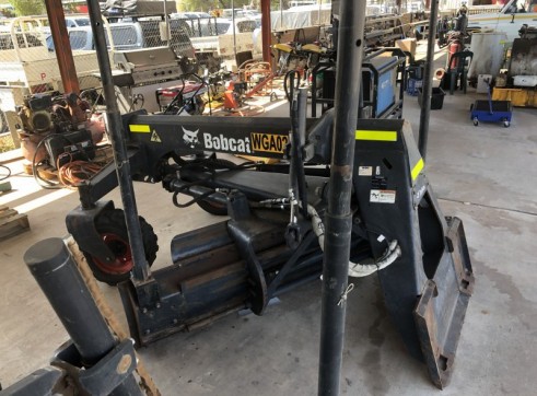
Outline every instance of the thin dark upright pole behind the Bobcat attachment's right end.
[[433, 63], [434, 45], [436, 40], [436, 19], [439, 15], [439, 0], [431, 0], [431, 14], [429, 18], [429, 37], [427, 43], [427, 62], [423, 73], [422, 101], [420, 113], [420, 131], [418, 136], [418, 149], [425, 160], [427, 140], [429, 138], [429, 118], [431, 115], [431, 97], [433, 92]]

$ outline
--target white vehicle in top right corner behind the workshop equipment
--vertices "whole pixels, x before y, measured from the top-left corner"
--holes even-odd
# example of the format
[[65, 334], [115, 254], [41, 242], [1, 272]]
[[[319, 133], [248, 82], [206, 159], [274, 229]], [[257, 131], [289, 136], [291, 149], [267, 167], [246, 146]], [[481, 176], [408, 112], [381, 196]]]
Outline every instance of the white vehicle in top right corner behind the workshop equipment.
[[470, 14], [467, 30], [504, 32], [512, 43], [523, 24], [537, 26], [537, 0], [510, 0], [499, 12]]

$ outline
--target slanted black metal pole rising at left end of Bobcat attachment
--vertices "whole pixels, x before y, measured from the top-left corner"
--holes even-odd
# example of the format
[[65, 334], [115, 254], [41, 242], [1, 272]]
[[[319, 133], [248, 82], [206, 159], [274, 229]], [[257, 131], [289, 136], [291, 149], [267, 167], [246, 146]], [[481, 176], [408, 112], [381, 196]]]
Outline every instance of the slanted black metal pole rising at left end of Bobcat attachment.
[[132, 275], [136, 280], [144, 281], [149, 278], [149, 265], [143, 252], [142, 231], [138, 220], [136, 207], [135, 187], [130, 175], [130, 163], [127, 154], [127, 143], [121, 123], [121, 115], [116, 101], [114, 80], [112, 78], [110, 59], [106, 48], [105, 34], [98, 0], [87, 0], [87, 9], [93, 30], [93, 40], [97, 54], [98, 68], [101, 70], [101, 81], [103, 82], [103, 93], [106, 101], [106, 116], [108, 136], [114, 149], [114, 162], [121, 191], [121, 201], [125, 209], [125, 220], [129, 234], [130, 248], [135, 266]]

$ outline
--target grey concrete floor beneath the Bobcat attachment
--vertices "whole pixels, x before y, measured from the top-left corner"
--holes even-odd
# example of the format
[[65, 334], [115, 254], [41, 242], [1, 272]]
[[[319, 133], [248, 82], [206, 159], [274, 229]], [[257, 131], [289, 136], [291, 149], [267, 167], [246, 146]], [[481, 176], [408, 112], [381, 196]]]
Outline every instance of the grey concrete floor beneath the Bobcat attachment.
[[[478, 97], [447, 95], [432, 112], [427, 173], [444, 214], [463, 219], [476, 276], [451, 385], [443, 395], [535, 395], [537, 388], [537, 110], [516, 108], [511, 128], [474, 127]], [[405, 118], [418, 132], [416, 97]], [[46, 191], [11, 163], [14, 191], [0, 205], [26, 212], [32, 230], [0, 243], [0, 382], [5, 387], [46, 365], [67, 335], [26, 269], [30, 245], [66, 235], [68, 190]], [[136, 185], [140, 213], [154, 226], [168, 265], [171, 238], [214, 219], [174, 209], [160, 186]], [[109, 198], [119, 202], [118, 191]], [[34, 205], [35, 208], [33, 207]], [[348, 395], [436, 395], [423, 364], [410, 358], [383, 305], [375, 276], [352, 280], [341, 392]], [[103, 286], [121, 321], [117, 291]], [[315, 395], [320, 282], [284, 294], [265, 316], [231, 315], [209, 328], [177, 334], [140, 350], [162, 394]]]

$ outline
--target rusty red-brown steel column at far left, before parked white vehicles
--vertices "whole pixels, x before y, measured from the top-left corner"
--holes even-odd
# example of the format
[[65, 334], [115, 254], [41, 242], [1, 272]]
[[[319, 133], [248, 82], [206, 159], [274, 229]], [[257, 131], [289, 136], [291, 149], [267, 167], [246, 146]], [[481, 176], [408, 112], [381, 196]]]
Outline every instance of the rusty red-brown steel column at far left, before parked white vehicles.
[[74, 67], [74, 59], [71, 51], [71, 43], [66, 26], [66, 15], [61, 0], [45, 0], [48, 22], [50, 23], [50, 33], [52, 34], [56, 59], [60, 69], [61, 83], [63, 92], [75, 94], [80, 93], [79, 78]]

